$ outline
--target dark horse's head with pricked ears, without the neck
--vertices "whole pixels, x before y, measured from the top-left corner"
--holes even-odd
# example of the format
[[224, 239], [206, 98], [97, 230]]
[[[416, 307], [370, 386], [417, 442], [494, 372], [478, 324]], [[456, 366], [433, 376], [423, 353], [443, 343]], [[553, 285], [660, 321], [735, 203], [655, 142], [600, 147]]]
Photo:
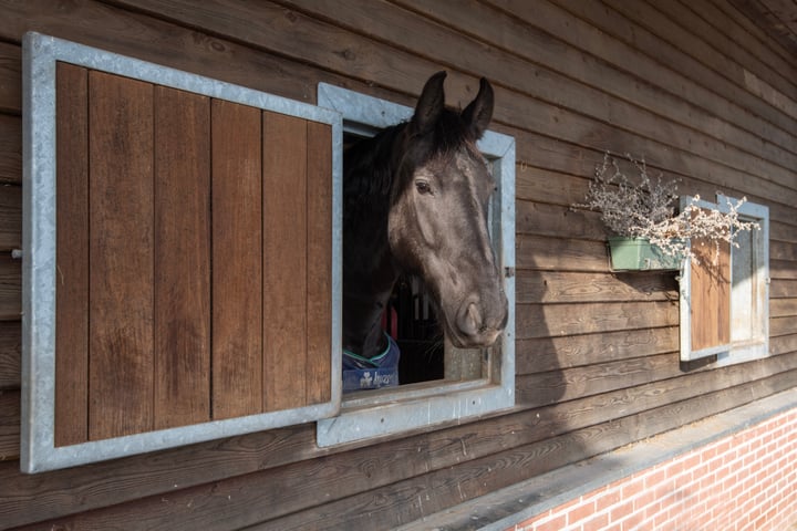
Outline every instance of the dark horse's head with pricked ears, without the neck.
[[488, 232], [496, 190], [476, 142], [493, 115], [493, 88], [445, 108], [445, 72], [433, 75], [405, 128], [387, 222], [400, 267], [423, 278], [448, 339], [460, 347], [491, 345], [507, 319], [507, 300]]

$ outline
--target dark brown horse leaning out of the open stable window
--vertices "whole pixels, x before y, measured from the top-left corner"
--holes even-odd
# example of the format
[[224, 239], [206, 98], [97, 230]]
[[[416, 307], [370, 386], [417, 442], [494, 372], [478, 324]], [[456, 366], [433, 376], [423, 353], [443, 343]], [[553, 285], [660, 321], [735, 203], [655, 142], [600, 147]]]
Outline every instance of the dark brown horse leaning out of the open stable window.
[[493, 87], [482, 79], [457, 112], [445, 106], [445, 77], [426, 81], [408, 122], [344, 150], [344, 368], [345, 355], [370, 368], [395, 346], [381, 321], [402, 274], [423, 280], [457, 347], [487, 347], [506, 325], [487, 219], [496, 183], [476, 147], [493, 117]]

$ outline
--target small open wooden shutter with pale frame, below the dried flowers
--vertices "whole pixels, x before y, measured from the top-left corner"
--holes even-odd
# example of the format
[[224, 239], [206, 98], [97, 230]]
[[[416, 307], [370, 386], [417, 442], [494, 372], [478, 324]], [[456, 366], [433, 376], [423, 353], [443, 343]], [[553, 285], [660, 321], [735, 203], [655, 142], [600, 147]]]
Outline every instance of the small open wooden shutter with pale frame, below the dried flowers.
[[[682, 208], [691, 198], [682, 198]], [[686, 202], [684, 202], [686, 201]], [[705, 204], [705, 208], [717, 208]], [[695, 239], [698, 261], [685, 260], [681, 279], [681, 360], [691, 361], [731, 347], [731, 246]]]

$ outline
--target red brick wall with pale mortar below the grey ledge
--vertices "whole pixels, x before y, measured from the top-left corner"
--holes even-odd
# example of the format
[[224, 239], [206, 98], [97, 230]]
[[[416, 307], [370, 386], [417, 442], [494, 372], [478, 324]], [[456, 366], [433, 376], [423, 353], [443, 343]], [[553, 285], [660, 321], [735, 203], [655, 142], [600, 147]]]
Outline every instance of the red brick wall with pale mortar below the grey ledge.
[[510, 529], [797, 531], [797, 410], [618, 480]]

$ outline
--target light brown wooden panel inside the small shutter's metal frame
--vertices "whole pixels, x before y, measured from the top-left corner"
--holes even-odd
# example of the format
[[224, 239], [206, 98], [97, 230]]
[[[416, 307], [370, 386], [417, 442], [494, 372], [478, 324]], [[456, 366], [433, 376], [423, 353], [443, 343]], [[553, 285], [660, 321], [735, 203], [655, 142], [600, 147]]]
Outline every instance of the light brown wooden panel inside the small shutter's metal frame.
[[691, 264], [692, 351], [728, 344], [731, 341], [731, 247], [695, 240], [692, 250], [700, 263]]

